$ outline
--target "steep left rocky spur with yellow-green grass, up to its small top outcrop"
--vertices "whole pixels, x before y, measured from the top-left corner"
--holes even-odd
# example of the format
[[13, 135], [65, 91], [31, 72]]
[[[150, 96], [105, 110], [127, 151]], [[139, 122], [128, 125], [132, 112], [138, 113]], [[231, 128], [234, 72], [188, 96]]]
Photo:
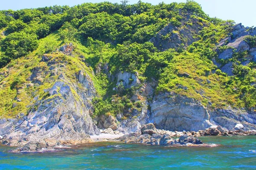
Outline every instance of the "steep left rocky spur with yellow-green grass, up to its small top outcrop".
[[[96, 89], [87, 74], [90, 69], [73, 58], [71, 43], [55, 53], [44, 54], [37, 66], [32, 66], [26, 82], [14, 87], [17, 88], [17, 102], [22, 102], [19, 97], [22, 93], [32, 96], [27, 101], [27, 114], [19, 113], [17, 119], [1, 119], [3, 144], [87, 142], [90, 141], [89, 135], [99, 134], [91, 119], [91, 101], [96, 96]], [[76, 65], [75, 70], [73, 65], [70, 67], [71, 63]], [[39, 92], [42, 90], [43, 94]], [[17, 102], [12, 108], [19, 107]]]

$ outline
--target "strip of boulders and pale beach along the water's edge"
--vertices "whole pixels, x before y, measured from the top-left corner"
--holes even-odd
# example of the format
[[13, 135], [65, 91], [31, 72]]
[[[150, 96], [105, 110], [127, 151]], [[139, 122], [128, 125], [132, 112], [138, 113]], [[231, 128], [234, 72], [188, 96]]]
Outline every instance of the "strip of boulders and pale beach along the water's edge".
[[[113, 131], [113, 130], [112, 130]], [[200, 136], [248, 136], [256, 135], [256, 130], [242, 130], [241, 126], [237, 126], [234, 130], [224, 130], [221, 126], [212, 126], [205, 130], [195, 131], [183, 131], [172, 132], [168, 130], [159, 130], [154, 124], [149, 123], [143, 125], [140, 131], [137, 133], [123, 134], [117, 130], [114, 133], [109, 129], [104, 130], [100, 135], [92, 135], [90, 138], [84, 140], [70, 140], [70, 141], [55, 141], [51, 139], [44, 139], [43, 141], [36, 142], [30, 141], [24, 146], [17, 147], [10, 152], [41, 152], [41, 151], [53, 151], [59, 148], [71, 148], [77, 144], [87, 142], [124, 142], [124, 143], [139, 143], [150, 145], [163, 145], [170, 147], [218, 147], [219, 144], [203, 143]], [[111, 132], [111, 133], [107, 133]], [[2, 140], [0, 136], [0, 142], [7, 144]]]

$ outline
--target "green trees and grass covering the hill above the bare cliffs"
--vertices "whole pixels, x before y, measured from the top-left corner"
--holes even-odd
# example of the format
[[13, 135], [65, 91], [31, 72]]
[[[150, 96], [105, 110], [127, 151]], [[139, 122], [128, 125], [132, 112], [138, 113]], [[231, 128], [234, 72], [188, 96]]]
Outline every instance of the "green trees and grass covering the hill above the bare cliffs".
[[[76, 82], [81, 69], [90, 75], [98, 94], [93, 99], [95, 116], [141, 108], [143, 101], [131, 99], [141, 94], [140, 85], [116, 85], [120, 71], [137, 74], [141, 84], [154, 84], [154, 94], [169, 91], [211, 108], [253, 111], [256, 63], [241, 65], [248, 50], [218, 58], [227, 49], [218, 44], [232, 36], [233, 24], [209, 17], [191, 0], [156, 6], [141, 1], [128, 5], [124, 0], [0, 11], [0, 116], [28, 113], [37, 109], [32, 108], [35, 97], [52, 97], [45, 89], [59, 75], [52, 74], [42, 56], [65, 63], [70, 82]], [[255, 37], [246, 40], [250, 48], [256, 47]], [[71, 54], [56, 50], [70, 42]], [[221, 65], [233, 62], [233, 76], [219, 70], [215, 60]], [[38, 76], [40, 71], [46, 76]], [[75, 89], [71, 91], [76, 96]]]

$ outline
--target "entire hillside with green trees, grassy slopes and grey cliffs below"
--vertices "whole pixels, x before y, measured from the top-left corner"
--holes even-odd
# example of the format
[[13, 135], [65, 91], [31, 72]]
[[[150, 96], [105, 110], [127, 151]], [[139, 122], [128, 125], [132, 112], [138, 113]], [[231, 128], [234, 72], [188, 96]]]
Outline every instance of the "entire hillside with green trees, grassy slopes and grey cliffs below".
[[255, 35], [191, 0], [0, 11], [2, 142], [256, 129]]

